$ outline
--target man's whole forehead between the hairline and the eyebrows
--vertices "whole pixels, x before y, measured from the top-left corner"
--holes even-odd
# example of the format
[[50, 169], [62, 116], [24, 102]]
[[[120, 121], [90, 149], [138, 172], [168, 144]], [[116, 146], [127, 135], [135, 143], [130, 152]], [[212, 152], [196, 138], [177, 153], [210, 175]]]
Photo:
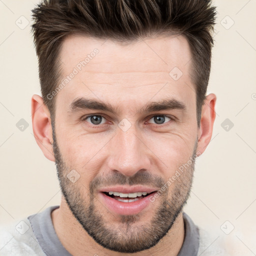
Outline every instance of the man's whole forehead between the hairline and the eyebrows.
[[62, 43], [60, 59], [60, 82], [66, 81], [57, 94], [61, 104], [84, 96], [113, 104], [113, 98], [118, 103], [138, 104], [166, 93], [186, 101], [194, 93], [191, 52], [182, 35], [141, 38], [126, 44], [70, 35]]

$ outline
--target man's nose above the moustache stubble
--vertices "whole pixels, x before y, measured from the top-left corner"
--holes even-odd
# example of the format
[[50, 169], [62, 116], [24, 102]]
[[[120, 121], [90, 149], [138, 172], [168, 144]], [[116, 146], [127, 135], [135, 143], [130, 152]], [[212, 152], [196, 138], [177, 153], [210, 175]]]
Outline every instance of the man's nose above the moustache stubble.
[[150, 169], [149, 154], [150, 150], [136, 128], [130, 127], [127, 131], [118, 129], [111, 139], [108, 167], [125, 176], [132, 176], [139, 170]]

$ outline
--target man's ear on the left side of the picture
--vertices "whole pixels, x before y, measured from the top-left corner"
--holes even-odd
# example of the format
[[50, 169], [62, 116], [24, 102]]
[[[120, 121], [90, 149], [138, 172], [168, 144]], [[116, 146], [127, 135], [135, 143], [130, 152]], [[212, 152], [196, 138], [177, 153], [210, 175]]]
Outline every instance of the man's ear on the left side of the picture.
[[48, 107], [44, 105], [42, 97], [34, 94], [31, 99], [31, 115], [34, 138], [44, 156], [55, 161], [52, 149], [52, 128]]

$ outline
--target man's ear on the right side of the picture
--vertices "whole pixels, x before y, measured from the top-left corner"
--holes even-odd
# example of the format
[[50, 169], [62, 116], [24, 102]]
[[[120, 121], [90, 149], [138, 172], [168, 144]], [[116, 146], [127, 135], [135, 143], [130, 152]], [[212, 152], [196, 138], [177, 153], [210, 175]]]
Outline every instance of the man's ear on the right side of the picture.
[[202, 105], [200, 128], [198, 128], [198, 143], [197, 150], [203, 153], [206, 146], [210, 142], [212, 135], [213, 123], [215, 120], [215, 103], [216, 95], [210, 93], [206, 96], [204, 104]]

